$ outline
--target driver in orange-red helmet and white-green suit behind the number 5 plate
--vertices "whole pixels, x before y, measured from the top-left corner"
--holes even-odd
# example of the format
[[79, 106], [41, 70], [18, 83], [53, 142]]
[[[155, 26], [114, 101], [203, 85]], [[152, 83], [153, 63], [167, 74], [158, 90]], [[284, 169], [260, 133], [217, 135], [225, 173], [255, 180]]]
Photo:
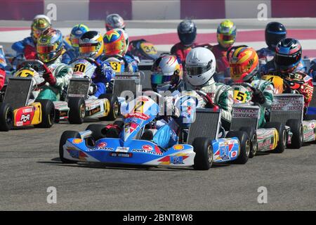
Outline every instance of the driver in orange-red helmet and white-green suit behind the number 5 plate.
[[[249, 83], [256, 91], [252, 93], [251, 101], [261, 108], [258, 127], [265, 124], [265, 110], [271, 108], [273, 100], [273, 84], [258, 79], [259, 60], [256, 51], [250, 47], [239, 47], [230, 53], [230, 77], [235, 83]], [[235, 91], [239, 91], [235, 87]]]

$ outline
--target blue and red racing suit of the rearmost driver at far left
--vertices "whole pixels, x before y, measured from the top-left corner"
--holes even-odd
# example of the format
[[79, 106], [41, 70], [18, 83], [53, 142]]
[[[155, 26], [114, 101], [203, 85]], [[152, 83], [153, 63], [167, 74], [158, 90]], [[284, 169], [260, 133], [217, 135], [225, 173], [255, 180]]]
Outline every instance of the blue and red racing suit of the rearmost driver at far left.
[[26, 59], [37, 59], [37, 47], [32, 37], [16, 41], [11, 47], [17, 55], [24, 55]]

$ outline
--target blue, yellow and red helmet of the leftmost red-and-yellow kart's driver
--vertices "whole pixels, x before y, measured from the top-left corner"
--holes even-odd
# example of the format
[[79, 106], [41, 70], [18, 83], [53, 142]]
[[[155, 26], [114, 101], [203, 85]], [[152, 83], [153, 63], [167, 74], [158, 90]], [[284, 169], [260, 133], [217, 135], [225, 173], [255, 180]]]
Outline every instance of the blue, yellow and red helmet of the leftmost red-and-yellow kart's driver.
[[63, 39], [60, 30], [48, 28], [37, 40], [37, 56], [44, 63], [58, 58], [63, 50]]

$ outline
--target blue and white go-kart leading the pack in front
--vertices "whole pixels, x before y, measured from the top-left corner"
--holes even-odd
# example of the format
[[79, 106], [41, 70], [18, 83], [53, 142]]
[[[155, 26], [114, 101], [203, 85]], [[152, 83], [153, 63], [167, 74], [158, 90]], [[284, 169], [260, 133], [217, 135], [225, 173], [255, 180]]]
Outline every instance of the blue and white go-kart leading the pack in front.
[[[162, 148], [143, 134], [159, 113], [159, 105], [139, 96], [126, 106], [120, 137], [107, 138], [103, 124], [91, 124], [86, 131], [65, 131], [60, 138], [60, 160], [65, 163], [104, 162], [110, 164], [175, 166], [209, 169], [213, 162], [236, 160], [245, 163], [250, 143], [244, 131], [231, 131], [220, 138], [220, 110], [197, 109], [185, 143]], [[224, 132], [225, 133], [225, 132]]]

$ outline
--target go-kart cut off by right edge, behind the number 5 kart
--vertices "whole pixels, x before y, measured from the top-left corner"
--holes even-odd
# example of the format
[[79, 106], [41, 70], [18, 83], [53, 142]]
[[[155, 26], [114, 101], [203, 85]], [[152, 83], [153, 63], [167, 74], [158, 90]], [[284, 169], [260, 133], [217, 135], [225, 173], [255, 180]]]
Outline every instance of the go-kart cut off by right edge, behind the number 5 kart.
[[[264, 75], [275, 85], [275, 96], [270, 110], [270, 121], [280, 121], [291, 127], [291, 148], [300, 148], [303, 143], [316, 140], [315, 115], [305, 115], [304, 96], [300, 93], [304, 82], [297, 79], [282, 79], [277, 75]], [[288, 94], [287, 94], [288, 93]], [[300, 121], [292, 124], [292, 121]]]

